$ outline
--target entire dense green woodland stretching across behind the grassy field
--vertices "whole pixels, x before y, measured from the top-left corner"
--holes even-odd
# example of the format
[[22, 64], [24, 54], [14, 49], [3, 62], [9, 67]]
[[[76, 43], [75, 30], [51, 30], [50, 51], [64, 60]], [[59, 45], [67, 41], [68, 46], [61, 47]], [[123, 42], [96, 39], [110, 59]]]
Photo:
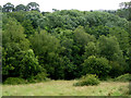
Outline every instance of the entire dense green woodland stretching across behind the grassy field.
[[[123, 4], [124, 5], [124, 4]], [[41, 12], [31, 2], [2, 8], [2, 75], [73, 79], [131, 73], [130, 20], [99, 11]], [[121, 11], [124, 9], [120, 9]]]

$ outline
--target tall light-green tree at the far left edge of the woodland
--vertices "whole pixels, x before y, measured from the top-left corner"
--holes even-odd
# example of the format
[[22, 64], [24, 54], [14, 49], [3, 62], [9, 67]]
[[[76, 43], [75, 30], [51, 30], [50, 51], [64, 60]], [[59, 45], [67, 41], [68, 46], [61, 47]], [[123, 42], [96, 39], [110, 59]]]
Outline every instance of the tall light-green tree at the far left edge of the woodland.
[[3, 19], [2, 30], [2, 71], [3, 75], [17, 76], [20, 61], [16, 60], [16, 54], [21, 51], [26, 51], [29, 48], [29, 41], [25, 38], [24, 28], [16, 20], [11, 17]]

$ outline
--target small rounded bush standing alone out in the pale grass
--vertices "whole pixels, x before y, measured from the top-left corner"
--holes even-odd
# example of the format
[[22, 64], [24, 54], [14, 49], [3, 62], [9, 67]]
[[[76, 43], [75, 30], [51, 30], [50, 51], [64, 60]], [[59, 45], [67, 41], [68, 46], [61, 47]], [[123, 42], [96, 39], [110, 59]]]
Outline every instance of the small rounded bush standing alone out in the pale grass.
[[83, 76], [80, 82], [73, 84], [74, 86], [88, 86], [88, 85], [98, 85], [100, 83], [100, 81], [97, 78], [96, 75], [94, 74], [87, 74], [85, 76]]

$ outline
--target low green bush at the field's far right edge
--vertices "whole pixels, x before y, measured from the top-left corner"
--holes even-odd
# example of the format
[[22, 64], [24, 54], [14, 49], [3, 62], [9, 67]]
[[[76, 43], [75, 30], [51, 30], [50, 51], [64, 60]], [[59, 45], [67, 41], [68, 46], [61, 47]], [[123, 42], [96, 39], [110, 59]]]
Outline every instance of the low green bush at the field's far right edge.
[[123, 74], [115, 78], [115, 82], [131, 82], [131, 74]]

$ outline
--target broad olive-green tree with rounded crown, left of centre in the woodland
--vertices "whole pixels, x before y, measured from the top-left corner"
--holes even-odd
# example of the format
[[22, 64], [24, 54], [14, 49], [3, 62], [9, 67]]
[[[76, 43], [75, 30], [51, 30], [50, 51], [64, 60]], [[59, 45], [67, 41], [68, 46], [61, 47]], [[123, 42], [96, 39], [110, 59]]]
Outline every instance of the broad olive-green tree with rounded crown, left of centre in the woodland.
[[29, 40], [35, 54], [38, 56], [39, 64], [47, 70], [50, 77], [58, 78], [60, 76], [59, 78], [63, 78], [59, 40], [45, 32], [35, 34]]

